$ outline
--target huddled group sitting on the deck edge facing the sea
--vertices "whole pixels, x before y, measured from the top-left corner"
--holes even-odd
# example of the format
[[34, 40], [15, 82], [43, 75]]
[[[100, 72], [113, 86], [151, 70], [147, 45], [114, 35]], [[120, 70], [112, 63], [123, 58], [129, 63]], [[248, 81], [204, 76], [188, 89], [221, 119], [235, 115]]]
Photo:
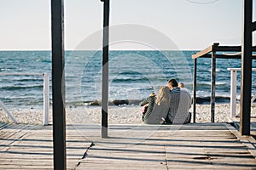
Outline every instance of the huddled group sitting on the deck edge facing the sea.
[[178, 84], [175, 79], [168, 81], [168, 87], [161, 87], [156, 98], [152, 93], [140, 105], [147, 107], [143, 112], [143, 122], [147, 124], [184, 124], [191, 121], [191, 96], [183, 88], [183, 83]]

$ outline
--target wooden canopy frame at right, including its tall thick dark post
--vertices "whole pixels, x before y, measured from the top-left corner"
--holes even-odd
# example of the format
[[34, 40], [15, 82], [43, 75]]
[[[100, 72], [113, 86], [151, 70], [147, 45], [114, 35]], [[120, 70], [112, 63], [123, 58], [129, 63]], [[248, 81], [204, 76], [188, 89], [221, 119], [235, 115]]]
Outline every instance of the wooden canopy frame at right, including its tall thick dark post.
[[[253, 1], [243, 1], [243, 30], [241, 46], [219, 46], [219, 43], [213, 43], [210, 47], [201, 52], [192, 55], [194, 59], [194, 104], [193, 112], [195, 122], [195, 104], [196, 104], [196, 63], [198, 58], [212, 58], [211, 71], [211, 122], [214, 122], [215, 110], [215, 82], [216, 82], [216, 59], [241, 59], [241, 107], [240, 107], [240, 133], [241, 135], [250, 135], [250, 117], [251, 117], [251, 91], [252, 91], [252, 59], [256, 59], [252, 47], [253, 31], [256, 31], [256, 22], [253, 22]], [[226, 52], [236, 52], [235, 54], [225, 54]]]

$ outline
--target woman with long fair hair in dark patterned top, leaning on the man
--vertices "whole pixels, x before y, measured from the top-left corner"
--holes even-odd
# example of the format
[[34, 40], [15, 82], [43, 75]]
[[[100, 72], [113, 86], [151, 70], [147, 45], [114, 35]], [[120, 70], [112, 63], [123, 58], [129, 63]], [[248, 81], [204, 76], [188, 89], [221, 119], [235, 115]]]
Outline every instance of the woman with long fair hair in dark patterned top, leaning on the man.
[[[143, 122], [148, 124], [162, 124], [169, 111], [170, 89], [166, 86], [160, 88], [155, 102], [150, 96], [143, 100], [141, 105], [148, 104], [148, 111], [143, 116]], [[147, 101], [151, 101], [150, 103]]]

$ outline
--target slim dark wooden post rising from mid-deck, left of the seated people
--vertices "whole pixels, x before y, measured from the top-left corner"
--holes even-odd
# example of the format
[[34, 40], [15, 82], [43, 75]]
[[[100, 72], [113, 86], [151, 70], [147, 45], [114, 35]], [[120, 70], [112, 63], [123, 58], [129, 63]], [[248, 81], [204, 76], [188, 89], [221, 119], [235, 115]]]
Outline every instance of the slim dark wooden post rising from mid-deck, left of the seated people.
[[102, 138], [108, 138], [108, 37], [109, 0], [104, 2], [103, 53], [102, 53]]

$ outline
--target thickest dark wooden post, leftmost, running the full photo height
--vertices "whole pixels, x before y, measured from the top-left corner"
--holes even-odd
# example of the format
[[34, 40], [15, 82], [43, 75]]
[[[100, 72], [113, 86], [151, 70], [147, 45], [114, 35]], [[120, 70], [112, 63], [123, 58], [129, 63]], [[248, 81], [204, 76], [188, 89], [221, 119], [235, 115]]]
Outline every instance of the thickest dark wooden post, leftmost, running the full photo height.
[[51, 0], [54, 167], [66, 169], [64, 0]]

